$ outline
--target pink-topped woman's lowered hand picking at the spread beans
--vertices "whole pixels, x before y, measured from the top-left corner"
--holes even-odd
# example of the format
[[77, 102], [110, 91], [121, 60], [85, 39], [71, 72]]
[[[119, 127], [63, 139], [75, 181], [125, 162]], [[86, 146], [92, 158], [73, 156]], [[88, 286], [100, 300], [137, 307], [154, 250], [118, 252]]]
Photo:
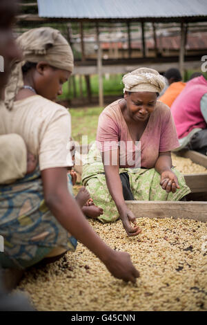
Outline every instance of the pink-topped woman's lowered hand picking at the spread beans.
[[[136, 217], [129, 209], [120, 213], [120, 219], [128, 236], [137, 236], [137, 234], [140, 234], [141, 229], [137, 226]], [[132, 223], [134, 227], [132, 227]]]

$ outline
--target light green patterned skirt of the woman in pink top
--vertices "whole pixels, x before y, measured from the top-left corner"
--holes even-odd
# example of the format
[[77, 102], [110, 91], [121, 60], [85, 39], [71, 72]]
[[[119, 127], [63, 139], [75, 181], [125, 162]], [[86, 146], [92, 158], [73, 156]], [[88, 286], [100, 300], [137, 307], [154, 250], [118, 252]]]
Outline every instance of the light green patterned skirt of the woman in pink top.
[[[101, 156], [93, 145], [88, 153], [88, 161], [83, 165], [82, 182], [90, 192], [95, 205], [103, 209], [103, 215], [99, 216], [98, 219], [106, 223], [116, 221], [119, 214], [108, 191], [103, 172]], [[128, 173], [130, 189], [136, 201], [179, 201], [190, 193], [184, 176], [177, 169], [173, 169], [173, 172], [178, 178], [180, 188], [175, 193], [167, 193], [161, 188], [159, 185], [160, 174], [154, 168], [119, 169], [119, 174], [124, 172]]]

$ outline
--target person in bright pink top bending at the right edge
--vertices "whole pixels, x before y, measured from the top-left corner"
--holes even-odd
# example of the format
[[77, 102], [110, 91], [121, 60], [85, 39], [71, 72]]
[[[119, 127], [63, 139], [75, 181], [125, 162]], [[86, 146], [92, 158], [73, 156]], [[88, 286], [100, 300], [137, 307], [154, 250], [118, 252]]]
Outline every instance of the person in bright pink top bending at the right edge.
[[[181, 149], [206, 155], [207, 152], [207, 81], [193, 73], [185, 89], [171, 106]], [[192, 79], [193, 78], [193, 79]]]

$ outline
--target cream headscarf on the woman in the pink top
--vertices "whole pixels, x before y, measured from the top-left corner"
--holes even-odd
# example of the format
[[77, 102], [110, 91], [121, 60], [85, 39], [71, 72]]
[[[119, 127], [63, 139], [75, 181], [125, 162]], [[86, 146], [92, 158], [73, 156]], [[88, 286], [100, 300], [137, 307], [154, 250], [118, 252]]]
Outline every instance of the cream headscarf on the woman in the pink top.
[[152, 91], [160, 93], [165, 86], [165, 80], [156, 70], [150, 68], [138, 68], [124, 75], [124, 91]]

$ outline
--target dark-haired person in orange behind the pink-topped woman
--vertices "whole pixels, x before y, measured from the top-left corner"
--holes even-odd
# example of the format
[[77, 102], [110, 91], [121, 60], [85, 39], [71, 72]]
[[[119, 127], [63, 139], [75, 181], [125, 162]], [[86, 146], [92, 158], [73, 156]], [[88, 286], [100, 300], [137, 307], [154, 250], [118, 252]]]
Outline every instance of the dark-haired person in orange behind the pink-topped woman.
[[186, 83], [181, 81], [181, 74], [176, 68], [171, 68], [166, 71], [164, 77], [166, 79], [167, 86], [161, 93], [159, 100], [171, 107], [175, 98], [179, 95], [179, 93], [181, 93], [181, 91], [186, 86]]

